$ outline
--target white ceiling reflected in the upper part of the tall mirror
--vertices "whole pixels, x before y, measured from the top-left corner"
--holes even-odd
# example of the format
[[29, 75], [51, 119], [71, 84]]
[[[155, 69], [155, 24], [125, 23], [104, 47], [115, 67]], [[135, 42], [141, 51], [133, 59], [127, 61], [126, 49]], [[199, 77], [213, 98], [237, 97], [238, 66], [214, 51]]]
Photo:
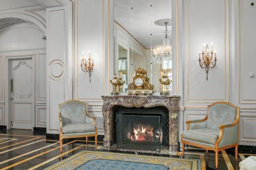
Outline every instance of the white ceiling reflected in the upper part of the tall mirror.
[[114, 20], [146, 49], [162, 44], [165, 27], [154, 22], [164, 18], [171, 18], [171, 0], [114, 0]]

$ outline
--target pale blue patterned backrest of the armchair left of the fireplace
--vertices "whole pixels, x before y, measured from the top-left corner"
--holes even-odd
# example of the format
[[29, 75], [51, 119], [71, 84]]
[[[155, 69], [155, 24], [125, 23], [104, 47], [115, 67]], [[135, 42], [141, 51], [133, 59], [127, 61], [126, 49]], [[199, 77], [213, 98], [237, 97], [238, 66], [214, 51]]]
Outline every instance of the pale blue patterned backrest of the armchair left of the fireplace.
[[79, 100], [69, 100], [59, 104], [59, 114], [64, 124], [85, 123], [87, 104]]

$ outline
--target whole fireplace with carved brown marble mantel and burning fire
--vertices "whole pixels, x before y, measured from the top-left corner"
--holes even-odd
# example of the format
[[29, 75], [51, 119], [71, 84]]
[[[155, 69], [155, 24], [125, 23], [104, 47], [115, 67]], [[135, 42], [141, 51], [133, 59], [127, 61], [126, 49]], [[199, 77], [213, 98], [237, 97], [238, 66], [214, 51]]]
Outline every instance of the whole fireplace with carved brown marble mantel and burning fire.
[[[130, 146], [132, 146], [133, 148], [137, 148], [136, 145], [133, 145], [133, 144], [136, 144], [136, 143], [143, 144], [144, 142], [148, 142], [147, 144], [150, 145], [150, 142], [153, 141], [153, 143], [151, 144], [152, 145], [154, 144], [154, 150], [157, 150], [159, 146], [169, 146], [169, 149], [171, 151], [179, 150], [179, 146], [178, 146], [179, 96], [117, 95], [117, 96], [101, 96], [101, 97], [103, 99], [103, 106], [102, 106], [103, 126], [104, 126], [103, 146], [105, 148], [111, 148], [111, 149], [116, 147], [131, 148]], [[149, 117], [151, 117], [152, 120]], [[120, 121], [119, 123], [117, 122], [117, 119], [118, 121]], [[145, 121], [145, 119], [147, 119], [147, 121]], [[160, 119], [160, 126], [158, 127], [158, 125], [155, 125], [155, 124], [157, 124], [156, 122], [158, 122], [159, 124], [159, 119]], [[140, 120], [140, 121], [137, 121], [137, 120]], [[120, 127], [117, 127], [118, 124], [120, 125]], [[126, 130], [125, 128], [127, 128], [128, 126], [130, 126], [130, 128], [129, 130]], [[142, 130], [142, 126], [143, 126], [143, 130]], [[151, 133], [150, 131], [152, 126], [153, 126], [152, 131], [155, 130], [155, 132], [152, 132], [154, 133], [154, 136], [148, 137], [148, 135]], [[133, 128], [135, 129], [135, 131], [137, 131], [137, 134], [134, 132]], [[147, 128], [147, 132], [145, 128]], [[118, 133], [118, 138], [117, 138], [117, 129], [122, 131], [122, 133]], [[160, 144], [158, 140], [155, 139], [155, 137], [158, 136], [156, 134], [158, 131], [157, 129], [159, 129]], [[128, 133], [130, 133], [132, 136], [130, 137]], [[137, 139], [136, 139], [136, 136], [137, 136]], [[153, 138], [152, 141], [150, 140], [150, 137]], [[146, 138], [146, 141], [144, 141], [143, 138]], [[125, 142], [130, 142], [131, 145], [124, 146]], [[148, 150], [148, 148], [145, 148], [144, 145], [143, 147], [140, 147], [140, 150], [142, 149]], [[151, 148], [149, 148], [149, 150], [150, 149]]]

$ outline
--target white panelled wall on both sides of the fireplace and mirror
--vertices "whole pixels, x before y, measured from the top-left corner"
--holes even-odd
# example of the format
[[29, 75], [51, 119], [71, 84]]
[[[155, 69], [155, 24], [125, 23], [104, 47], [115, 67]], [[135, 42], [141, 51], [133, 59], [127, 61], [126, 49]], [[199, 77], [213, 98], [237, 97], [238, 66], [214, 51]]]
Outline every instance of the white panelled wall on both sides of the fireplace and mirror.
[[[179, 0], [178, 11], [173, 1], [173, 89], [181, 96], [180, 134], [185, 129], [185, 121], [206, 115], [207, 105], [229, 101], [241, 108], [240, 144], [256, 145], [253, 132], [256, 129], [256, 89], [253, 88], [256, 78], [249, 77], [249, 73], [256, 73], [253, 57], [256, 8], [249, 6], [250, 1]], [[75, 0], [74, 99], [89, 104], [90, 114], [97, 117], [100, 134], [103, 134], [100, 96], [112, 90], [109, 79], [114, 69], [113, 17], [113, 0]], [[199, 67], [198, 51], [203, 43], [211, 42], [217, 51], [217, 65], [210, 69], [206, 81], [205, 70]], [[79, 66], [83, 50], [91, 50], [96, 58], [91, 83]]]

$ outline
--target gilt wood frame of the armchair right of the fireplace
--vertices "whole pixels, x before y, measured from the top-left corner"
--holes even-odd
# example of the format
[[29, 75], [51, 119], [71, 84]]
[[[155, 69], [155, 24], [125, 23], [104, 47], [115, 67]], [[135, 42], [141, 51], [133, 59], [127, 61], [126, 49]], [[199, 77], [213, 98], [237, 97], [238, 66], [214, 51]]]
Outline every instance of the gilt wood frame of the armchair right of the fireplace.
[[[235, 121], [232, 122], [232, 124], [219, 125], [220, 133], [219, 133], [218, 139], [216, 140], [216, 142], [214, 144], [214, 147], [204, 146], [204, 145], [199, 145], [199, 144], [196, 144], [196, 143], [184, 141], [183, 140], [183, 134], [181, 135], [181, 144], [182, 144], [182, 157], [184, 157], [184, 144], [188, 144], [188, 145], [191, 145], [191, 146], [197, 146], [197, 147], [204, 148], [204, 149], [206, 149], [206, 153], [207, 154], [208, 154], [208, 150], [213, 150], [215, 152], [215, 167], [217, 169], [218, 168], [218, 153], [221, 150], [225, 150], [225, 149], [228, 149], [230, 147], [235, 147], [235, 158], [236, 158], [236, 161], [237, 161], [237, 157], [238, 157], [238, 142], [234, 143], [234, 144], [231, 144], [231, 145], [228, 145], [228, 146], [224, 146], [224, 147], [219, 147], [219, 143], [221, 142], [221, 140], [223, 138], [224, 129], [228, 128], [228, 127], [233, 127], [233, 126], [235, 126], [236, 124], [239, 123], [239, 107], [233, 105], [232, 103], [224, 102], [224, 101], [223, 102], [215, 102], [215, 103], [213, 103], [211, 105], [208, 105], [207, 106], [207, 115], [205, 116], [205, 118], [203, 118], [201, 120], [197, 120], [197, 121], [186, 121], [186, 130], [189, 130], [190, 123], [199, 123], [199, 122], [207, 121], [208, 114], [209, 114], [209, 108], [214, 106], [214, 105], [216, 105], [216, 104], [228, 104], [229, 106], [232, 106], [233, 108], [235, 108], [237, 113], [236, 113], [236, 119], [235, 119]], [[238, 141], [239, 141], [239, 124], [238, 124], [238, 134], [237, 135], [238, 135]]]

